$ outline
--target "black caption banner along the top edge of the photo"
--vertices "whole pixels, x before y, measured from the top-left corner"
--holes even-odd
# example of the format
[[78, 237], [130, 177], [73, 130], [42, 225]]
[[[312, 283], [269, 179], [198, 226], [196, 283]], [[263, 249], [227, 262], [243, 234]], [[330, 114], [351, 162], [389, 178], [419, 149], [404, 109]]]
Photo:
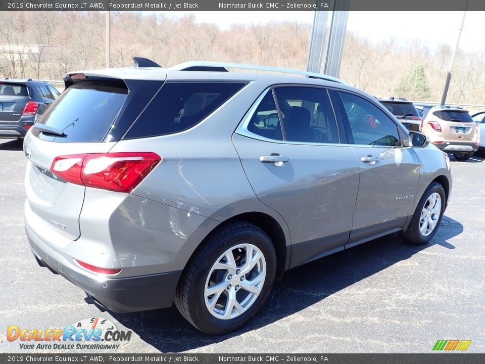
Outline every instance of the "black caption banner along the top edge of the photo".
[[2, 0], [0, 11], [485, 11], [483, 0]]

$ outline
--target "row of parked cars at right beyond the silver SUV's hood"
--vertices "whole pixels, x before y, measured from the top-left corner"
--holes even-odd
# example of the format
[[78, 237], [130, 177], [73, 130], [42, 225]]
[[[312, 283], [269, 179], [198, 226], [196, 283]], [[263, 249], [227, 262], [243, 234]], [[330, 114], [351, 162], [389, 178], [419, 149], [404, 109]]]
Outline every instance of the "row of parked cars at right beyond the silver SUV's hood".
[[[485, 111], [471, 116], [468, 111], [453, 106], [413, 104], [402, 98], [378, 99], [385, 108], [409, 130], [421, 131], [442, 151], [457, 160], [469, 159], [479, 147], [485, 147]], [[476, 121], [476, 122], [473, 122]]]

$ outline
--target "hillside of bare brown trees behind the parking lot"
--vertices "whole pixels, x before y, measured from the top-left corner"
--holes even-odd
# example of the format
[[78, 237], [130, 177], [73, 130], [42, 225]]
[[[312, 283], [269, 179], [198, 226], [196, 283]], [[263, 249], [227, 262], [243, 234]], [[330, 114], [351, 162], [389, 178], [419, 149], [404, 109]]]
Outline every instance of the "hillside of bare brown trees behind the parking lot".
[[[297, 68], [307, 65], [311, 26], [273, 21], [260, 25], [197, 23], [192, 16], [112, 12], [112, 67], [132, 56], [163, 66], [190, 60]], [[439, 101], [451, 58], [447, 44], [420, 40], [375, 43], [347, 32], [340, 78], [377, 96]], [[101, 12], [0, 13], [0, 77], [61, 79], [72, 70], [105, 66]], [[448, 102], [485, 104], [485, 55], [459, 52]]]

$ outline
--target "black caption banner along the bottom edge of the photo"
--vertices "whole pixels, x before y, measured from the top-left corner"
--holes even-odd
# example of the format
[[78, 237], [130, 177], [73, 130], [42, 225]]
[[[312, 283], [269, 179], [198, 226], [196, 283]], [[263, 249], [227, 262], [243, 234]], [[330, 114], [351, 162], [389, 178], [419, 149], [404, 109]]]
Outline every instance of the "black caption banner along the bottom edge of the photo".
[[0, 363], [7, 362], [475, 364], [485, 362], [485, 354], [0, 354]]

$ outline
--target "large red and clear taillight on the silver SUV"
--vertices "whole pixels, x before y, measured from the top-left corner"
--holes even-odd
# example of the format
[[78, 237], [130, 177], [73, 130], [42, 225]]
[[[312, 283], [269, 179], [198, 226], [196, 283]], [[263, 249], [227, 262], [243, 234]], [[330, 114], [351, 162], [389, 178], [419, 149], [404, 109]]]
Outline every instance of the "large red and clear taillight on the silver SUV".
[[130, 193], [161, 160], [149, 152], [73, 154], [54, 158], [51, 172], [76, 185]]

